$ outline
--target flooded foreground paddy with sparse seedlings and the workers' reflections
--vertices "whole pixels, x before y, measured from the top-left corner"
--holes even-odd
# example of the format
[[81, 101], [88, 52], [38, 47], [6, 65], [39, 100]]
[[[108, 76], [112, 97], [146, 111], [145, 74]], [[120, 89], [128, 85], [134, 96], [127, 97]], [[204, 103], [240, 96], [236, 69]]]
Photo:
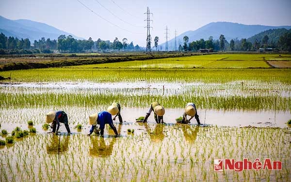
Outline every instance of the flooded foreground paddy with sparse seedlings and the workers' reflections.
[[[1, 181], [290, 181], [291, 131], [115, 123], [121, 136], [39, 132], [0, 148]], [[62, 127], [61, 127], [62, 128]], [[134, 132], [127, 132], [134, 129]], [[263, 142], [262, 142], [263, 141]], [[281, 170], [214, 171], [214, 159], [266, 158]]]

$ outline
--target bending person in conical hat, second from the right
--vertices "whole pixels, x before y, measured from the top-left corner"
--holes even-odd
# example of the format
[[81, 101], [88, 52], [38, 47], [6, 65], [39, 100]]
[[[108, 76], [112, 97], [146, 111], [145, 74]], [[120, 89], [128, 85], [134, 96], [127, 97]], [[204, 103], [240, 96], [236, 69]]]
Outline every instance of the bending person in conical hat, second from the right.
[[165, 114], [165, 109], [160, 105], [159, 102], [155, 101], [150, 104], [150, 108], [146, 113], [146, 117], [143, 120], [143, 123], [147, 121], [150, 113], [154, 111], [155, 120], [157, 123], [164, 123], [163, 122], [163, 115]]

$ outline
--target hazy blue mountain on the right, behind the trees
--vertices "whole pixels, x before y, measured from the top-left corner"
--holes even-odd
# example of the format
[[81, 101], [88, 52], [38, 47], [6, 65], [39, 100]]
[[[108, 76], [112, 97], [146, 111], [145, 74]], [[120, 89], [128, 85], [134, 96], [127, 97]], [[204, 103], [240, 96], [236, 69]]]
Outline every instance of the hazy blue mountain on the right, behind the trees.
[[[213, 39], [218, 39], [221, 34], [225, 35], [226, 40], [229, 42], [230, 39], [241, 39], [248, 38], [260, 32], [269, 29], [291, 29], [291, 26], [265, 26], [265, 25], [244, 25], [240, 23], [231, 22], [212, 22], [209, 23], [195, 31], [187, 31], [177, 36], [177, 48], [178, 42], [183, 44], [183, 37], [187, 35], [189, 37], [189, 42], [199, 40], [204, 38], [208, 40], [209, 36], [213, 36]], [[165, 50], [165, 43], [161, 44], [162, 50]], [[174, 50], [175, 37], [168, 41], [169, 50]]]

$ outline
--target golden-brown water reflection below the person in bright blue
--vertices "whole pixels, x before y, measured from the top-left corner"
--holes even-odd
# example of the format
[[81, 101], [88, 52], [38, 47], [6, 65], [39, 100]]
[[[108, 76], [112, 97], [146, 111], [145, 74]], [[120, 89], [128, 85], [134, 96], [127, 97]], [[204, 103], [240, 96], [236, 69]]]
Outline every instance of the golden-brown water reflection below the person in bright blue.
[[89, 155], [93, 157], [109, 157], [112, 155], [113, 145], [116, 138], [108, 138], [111, 140], [109, 145], [106, 145], [104, 137], [90, 136], [92, 146], [89, 149]]

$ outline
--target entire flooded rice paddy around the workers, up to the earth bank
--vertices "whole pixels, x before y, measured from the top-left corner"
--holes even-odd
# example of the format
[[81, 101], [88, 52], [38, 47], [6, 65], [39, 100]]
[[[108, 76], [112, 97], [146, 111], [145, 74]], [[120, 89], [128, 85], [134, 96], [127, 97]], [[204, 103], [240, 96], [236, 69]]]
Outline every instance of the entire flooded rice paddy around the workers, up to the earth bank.
[[[1, 71], [11, 79], [0, 83], [0, 181], [291, 181], [290, 61], [213, 54]], [[165, 124], [153, 114], [135, 122], [156, 100]], [[89, 115], [113, 101], [120, 136], [109, 126], [104, 137], [87, 136]], [[176, 122], [187, 102], [202, 126]], [[67, 113], [71, 135], [62, 124], [58, 135], [47, 133], [51, 110]], [[215, 171], [215, 159], [271, 159], [282, 168]]]

